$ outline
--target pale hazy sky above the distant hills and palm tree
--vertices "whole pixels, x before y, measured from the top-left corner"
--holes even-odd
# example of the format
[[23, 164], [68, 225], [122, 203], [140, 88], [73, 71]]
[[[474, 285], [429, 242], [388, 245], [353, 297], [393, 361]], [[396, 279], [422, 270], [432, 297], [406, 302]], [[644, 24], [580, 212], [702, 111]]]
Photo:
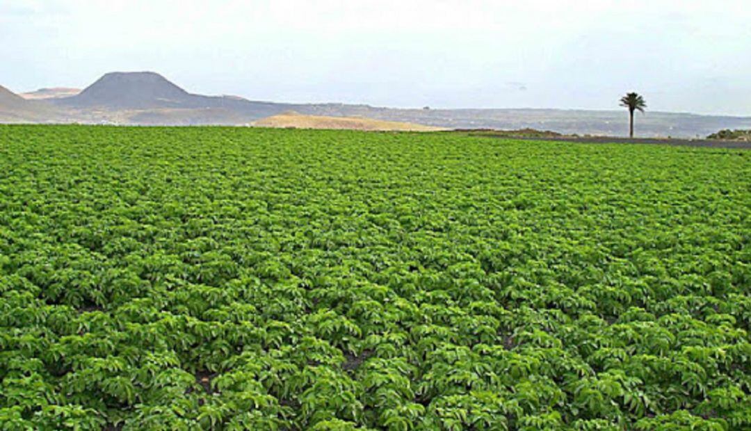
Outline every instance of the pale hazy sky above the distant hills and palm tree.
[[0, 0], [0, 85], [158, 71], [190, 92], [751, 115], [749, 0]]

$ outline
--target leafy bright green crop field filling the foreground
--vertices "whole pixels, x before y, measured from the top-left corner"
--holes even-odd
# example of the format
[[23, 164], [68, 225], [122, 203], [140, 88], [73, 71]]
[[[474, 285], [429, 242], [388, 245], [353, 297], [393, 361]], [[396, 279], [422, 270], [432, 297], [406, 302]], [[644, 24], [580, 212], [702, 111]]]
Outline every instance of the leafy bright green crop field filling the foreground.
[[751, 152], [0, 126], [0, 429], [751, 427]]

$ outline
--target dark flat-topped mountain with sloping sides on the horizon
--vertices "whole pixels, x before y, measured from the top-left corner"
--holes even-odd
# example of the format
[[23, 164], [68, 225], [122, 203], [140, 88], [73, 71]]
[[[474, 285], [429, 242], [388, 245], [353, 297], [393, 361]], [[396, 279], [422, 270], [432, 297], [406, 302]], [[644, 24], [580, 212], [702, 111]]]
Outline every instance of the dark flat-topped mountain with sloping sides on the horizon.
[[154, 72], [112, 72], [105, 74], [78, 95], [57, 98], [53, 103], [77, 109], [155, 110], [208, 109], [231, 110], [234, 117], [248, 120], [270, 116], [289, 109], [289, 105], [248, 101], [227, 96], [204, 96], [186, 92]]

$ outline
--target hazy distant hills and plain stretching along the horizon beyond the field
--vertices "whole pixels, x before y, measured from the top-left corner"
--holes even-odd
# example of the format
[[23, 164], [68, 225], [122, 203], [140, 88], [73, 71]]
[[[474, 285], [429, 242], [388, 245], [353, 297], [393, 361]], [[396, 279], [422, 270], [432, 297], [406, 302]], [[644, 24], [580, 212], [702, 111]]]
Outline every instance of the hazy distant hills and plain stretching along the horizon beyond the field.
[[[365, 104], [285, 104], [237, 96], [197, 95], [154, 72], [105, 74], [82, 91], [40, 89], [23, 97], [0, 86], [0, 122], [122, 125], [252, 125], [294, 110], [307, 116], [363, 117], [439, 128], [536, 128], [563, 134], [624, 136], [626, 110], [399, 109]], [[647, 112], [636, 120], [644, 137], [704, 137], [751, 128], [751, 117]]]

